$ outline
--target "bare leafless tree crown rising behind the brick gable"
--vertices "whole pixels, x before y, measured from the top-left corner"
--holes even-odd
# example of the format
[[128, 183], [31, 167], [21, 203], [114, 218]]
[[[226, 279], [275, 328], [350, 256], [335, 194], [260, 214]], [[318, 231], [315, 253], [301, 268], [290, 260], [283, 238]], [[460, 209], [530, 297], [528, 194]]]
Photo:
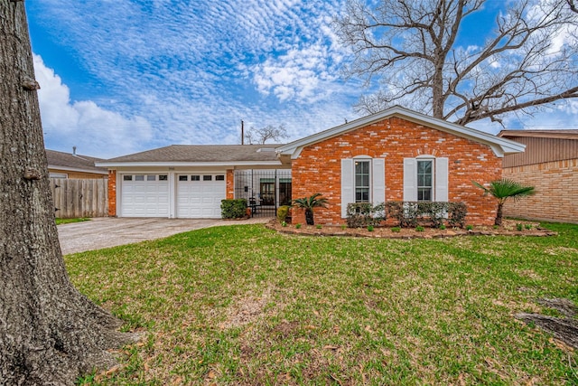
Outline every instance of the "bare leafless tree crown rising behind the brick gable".
[[485, 42], [463, 47], [464, 18], [486, 0], [350, 0], [335, 21], [354, 54], [346, 72], [380, 85], [356, 108], [372, 113], [401, 103], [465, 125], [576, 98], [574, 1], [512, 2]]

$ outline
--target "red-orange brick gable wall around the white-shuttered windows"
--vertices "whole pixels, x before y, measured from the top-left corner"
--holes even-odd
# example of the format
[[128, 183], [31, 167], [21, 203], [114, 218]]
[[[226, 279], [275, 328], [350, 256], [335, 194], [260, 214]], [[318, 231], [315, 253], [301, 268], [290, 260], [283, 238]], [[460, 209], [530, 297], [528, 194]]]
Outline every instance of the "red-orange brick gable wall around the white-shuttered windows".
[[[322, 193], [329, 200], [327, 209], [315, 210], [315, 222], [342, 224], [341, 159], [357, 155], [385, 158], [386, 201], [403, 200], [404, 158], [434, 155], [449, 159], [449, 201], [465, 202], [467, 223], [493, 224], [496, 202], [483, 196], [481, 184], [501, 177], [502, 159], [489, 146], [456, 137], [402, 118], [388, 118], [321, 143], [307, 146], [293, 161], [293, 198]], [[294, 211], [294, 223], [304, 223], [303, 212]]]

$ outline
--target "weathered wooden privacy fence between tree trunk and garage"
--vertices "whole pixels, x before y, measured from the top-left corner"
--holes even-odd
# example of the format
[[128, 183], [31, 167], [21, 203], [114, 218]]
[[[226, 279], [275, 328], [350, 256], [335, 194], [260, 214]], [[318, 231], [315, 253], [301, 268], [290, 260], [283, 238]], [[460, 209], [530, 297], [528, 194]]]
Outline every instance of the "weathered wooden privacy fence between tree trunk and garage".
[[51, 192], [56, 217], [106, 217], [108, 215], [108, 180], [51, 178]]

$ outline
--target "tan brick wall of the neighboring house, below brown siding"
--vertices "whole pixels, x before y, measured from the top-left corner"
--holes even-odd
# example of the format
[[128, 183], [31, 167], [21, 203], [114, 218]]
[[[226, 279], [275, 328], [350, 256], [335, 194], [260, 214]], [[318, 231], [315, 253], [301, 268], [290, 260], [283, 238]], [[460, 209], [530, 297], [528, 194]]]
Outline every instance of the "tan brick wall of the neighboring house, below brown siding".
[[508, 200], [505, 216], [578, 223], [578, 158], [506, 167], [504, 177], [536, 188], [535, 195]]

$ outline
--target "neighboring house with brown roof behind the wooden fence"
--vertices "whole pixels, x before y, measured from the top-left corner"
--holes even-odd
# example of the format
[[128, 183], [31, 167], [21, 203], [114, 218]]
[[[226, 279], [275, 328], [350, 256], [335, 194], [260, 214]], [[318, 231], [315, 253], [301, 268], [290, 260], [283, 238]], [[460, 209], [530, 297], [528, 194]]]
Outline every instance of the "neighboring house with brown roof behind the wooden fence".
[[88, 155], [77, 155], [76, 150], [72, 153], [62, 153], [54, 150], [46, 150], [48, 159], [48, 171], [51, 178], [107, 178], [106, 167], [95, 166], [95, 162], [102, 161]]

